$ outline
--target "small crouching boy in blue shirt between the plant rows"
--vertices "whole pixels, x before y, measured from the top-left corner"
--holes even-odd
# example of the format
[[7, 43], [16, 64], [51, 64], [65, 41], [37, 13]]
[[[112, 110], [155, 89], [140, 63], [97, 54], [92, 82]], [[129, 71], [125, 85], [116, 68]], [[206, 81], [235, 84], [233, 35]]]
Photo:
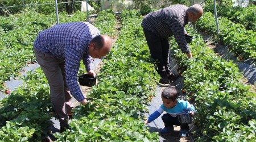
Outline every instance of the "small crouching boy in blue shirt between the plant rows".
[[174, 130], [173, 125], [176, 125], [180, 126], [179, 136], [187, 136], [189, 130], [188, 124], [181, 124], [176, 116], [179, 114], [187, 114], [188, 112], [193, 115], [195, 107], [187, 101], [177, 100], [177, 90], [174, 87], [167, 87], [164, 89], [161, 97], [163, 104], [148, 117], [148, 120], [146, 120], [145, 123], [152, 122], [166, 111], [166, 114], [162, 116], [165, 127], [160, 132], [163, 134], [169, 133]]

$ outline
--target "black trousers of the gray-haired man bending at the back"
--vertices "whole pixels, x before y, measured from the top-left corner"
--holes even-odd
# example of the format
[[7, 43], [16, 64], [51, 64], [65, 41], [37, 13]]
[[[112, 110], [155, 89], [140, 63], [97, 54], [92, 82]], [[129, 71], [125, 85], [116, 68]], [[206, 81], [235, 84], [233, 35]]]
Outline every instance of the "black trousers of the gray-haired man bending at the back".
[[157, 72], [161, 77], [170, 74], [169, 69], [169, 41], [168, 38], [162, 39], [157, 34], [143, 28], [147, 45], [150, 49], [152, 59], [156, 61]]

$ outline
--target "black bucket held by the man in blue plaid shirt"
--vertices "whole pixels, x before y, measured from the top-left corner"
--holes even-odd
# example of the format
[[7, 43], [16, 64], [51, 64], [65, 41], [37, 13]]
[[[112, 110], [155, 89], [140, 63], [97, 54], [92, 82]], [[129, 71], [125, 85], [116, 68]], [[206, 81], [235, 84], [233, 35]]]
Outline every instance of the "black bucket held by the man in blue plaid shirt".
[[92, 87], [94, 85], [96, 85], [96, 77], [93, 77], [90, 74], [82, 74], [81, 76], [79, 76], [79, 84], [82, 86], [88, 86], [88, 87]]

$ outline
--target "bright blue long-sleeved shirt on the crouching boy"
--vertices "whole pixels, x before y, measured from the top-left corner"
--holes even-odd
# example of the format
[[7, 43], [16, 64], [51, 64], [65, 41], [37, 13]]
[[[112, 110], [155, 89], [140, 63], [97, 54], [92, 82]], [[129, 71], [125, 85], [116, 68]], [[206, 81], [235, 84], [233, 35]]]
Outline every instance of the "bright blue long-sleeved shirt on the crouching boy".
[[163, 104], [153, 114], [148, 117], [148, 123], [158, 118], [164, 111], [170, 114], [172, 117], [176, 117], [179, 114], [187, 114], [189, 111], [195, 112], [195, 107], [188, 101], [178, 100], [177, 105], [174, 108], [166, 108]]

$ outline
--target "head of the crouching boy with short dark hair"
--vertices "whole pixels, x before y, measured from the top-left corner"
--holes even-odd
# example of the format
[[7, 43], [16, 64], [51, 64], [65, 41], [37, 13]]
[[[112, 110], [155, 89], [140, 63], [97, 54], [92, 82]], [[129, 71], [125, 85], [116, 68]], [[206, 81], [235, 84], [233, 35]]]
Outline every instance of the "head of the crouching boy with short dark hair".
[[177, 90], [175, 87], [166, 87], [162, 92], [163, 105], [172, 108], [177, 105]]

